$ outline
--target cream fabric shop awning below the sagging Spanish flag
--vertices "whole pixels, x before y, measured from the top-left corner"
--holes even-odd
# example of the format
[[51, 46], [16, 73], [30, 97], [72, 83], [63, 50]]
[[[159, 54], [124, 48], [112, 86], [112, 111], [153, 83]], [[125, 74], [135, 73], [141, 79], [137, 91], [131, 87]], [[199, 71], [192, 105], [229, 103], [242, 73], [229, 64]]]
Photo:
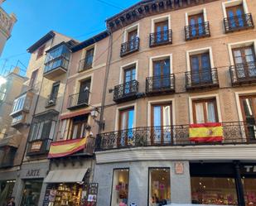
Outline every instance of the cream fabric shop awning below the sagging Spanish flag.
[[83, 181], [88, 168], [74, 170], [51, 170], [45, 183], [75, 183]]

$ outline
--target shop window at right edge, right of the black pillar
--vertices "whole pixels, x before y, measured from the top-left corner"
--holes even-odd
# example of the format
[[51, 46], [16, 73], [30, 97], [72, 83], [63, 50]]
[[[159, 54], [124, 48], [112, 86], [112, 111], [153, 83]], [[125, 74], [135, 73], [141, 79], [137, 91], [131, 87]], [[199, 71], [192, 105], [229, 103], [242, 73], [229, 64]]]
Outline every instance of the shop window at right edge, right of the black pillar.
[[246, 206], [256, 205], [256, 179], [244, 178], [242, 180], [244, 184], [244, 200]]

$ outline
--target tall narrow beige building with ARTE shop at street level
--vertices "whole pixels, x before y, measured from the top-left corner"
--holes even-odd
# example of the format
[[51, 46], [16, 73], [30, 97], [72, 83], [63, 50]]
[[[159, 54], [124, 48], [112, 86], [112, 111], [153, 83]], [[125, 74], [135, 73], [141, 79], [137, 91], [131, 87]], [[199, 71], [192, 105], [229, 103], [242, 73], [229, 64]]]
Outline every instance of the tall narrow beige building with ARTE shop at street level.
[[[76, 43], [70, 37], [50, 31], [27, 50], [31, 53], [27, 68], [29, 80], [21, 87], [22, 93], [14, 100], [10, 114], [12, 127], [17, 129], [12, 137], [17, 142], [12, 146], [15, 147], [13, 164], [8, 168], [12, 172], [5, 170], [0, 175], [1, 180], [15, 181], [12, 194], [18, 205], [28, 204], [31, 195], [34, 205], [43, 202], [43, 179], [50, 164], [47, 153], [62, 108], [70, 47]], [[2, 189], [1, 197], [5, 194]], [[3, 199], [6, 200], [7, 197]]]

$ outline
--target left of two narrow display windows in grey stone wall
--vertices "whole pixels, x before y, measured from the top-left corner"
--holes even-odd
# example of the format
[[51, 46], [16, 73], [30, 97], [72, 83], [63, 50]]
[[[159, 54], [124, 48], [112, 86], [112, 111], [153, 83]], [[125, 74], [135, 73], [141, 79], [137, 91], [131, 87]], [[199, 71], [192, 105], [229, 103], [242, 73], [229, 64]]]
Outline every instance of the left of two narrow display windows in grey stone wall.
[[128, 204], [129, 170], [114, 170], [111, 206]]

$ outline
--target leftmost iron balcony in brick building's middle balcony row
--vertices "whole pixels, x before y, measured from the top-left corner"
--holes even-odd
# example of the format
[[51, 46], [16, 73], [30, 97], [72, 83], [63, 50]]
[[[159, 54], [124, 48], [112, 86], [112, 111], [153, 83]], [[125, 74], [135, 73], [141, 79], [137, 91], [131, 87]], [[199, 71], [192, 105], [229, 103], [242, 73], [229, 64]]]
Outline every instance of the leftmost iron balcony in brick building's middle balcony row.
[[123, 103], [137, 98], [138, 81], [133, 80], [124, 84], [119, 84], [114, 87], [113, 101]]

